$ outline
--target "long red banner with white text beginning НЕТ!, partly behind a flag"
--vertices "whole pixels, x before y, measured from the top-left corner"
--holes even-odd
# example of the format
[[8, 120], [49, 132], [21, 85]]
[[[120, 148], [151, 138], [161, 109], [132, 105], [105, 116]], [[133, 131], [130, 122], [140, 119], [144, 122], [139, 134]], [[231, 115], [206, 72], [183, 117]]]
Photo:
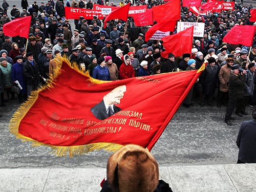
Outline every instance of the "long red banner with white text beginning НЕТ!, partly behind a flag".
[[[83, 16], [85, 19], [92, 19], [93, 16], [98, 15], [99, 19], [103, 19], [106, 15], [115, 11], [119, 7], [103, 6], [94, 4], [93, 9], [81, 9], [74, 7], [65, 7], [65, 14], [67, 19], [79, 19], [79, 16]], [[103, 10], [102, 10], [103, 9]], [[133, 16], [138, 13], [144, 13], [147, 10], [147, 6], [130, 6], [128, 16]]]

